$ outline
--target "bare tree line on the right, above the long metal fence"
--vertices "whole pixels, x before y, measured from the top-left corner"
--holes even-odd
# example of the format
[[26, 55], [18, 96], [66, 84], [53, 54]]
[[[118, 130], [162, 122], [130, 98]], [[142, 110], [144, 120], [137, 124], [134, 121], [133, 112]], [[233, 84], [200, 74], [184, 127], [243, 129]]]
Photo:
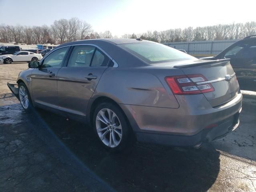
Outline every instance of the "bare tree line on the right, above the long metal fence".
[[256, 22], [219, 24], [205, 27], [188, 27], [165, 31], [148, 31], [142, 34], [124, 34], [122, 38], [142, 38], [155, 42], [185, 42], [234, 40], [256, 34]]

